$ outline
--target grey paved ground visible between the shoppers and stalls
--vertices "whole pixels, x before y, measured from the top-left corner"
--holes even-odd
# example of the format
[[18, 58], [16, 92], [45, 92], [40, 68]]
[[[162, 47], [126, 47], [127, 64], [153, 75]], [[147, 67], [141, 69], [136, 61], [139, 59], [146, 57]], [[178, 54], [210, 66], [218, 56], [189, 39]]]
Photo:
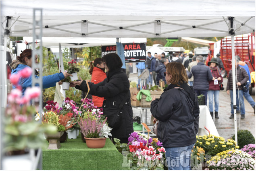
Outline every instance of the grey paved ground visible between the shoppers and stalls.
[[[129, 80], [137, 82], [137, 74], [130, 74]], [[227, 95], [226, 86], [227, 86], [227, 78], [224, 78], [223, 81], [225, 90], [220, 92], [219, 96], [219, 119], [213, 119], [215, 126], [219, 132], [220, 136], [223, 136], [226, 140], [233, 136], [234, 134], [234, 120], [229, 119], [231, 115], [231, 107], [230, 107], [230, 97]], [[154, 85], [154, 84], [153, 84]], [[252, 98], [255, 101], [255, 89], [253, 89]], [[245, 119], [239, 119], [240, 115], [237, 114], [237, 130], [250, 130], [255, 137], [255, 113], [252, 106], [244, 99], [245, 108], [246, 108], [246, 117]], [[142, 109], [133, 108], [133, 117], [141, 116]], [[147, 110], [147, 124], [150, 124], [151, 113], [150, 110]], [[150, 127], [150, 126], [149, 126]], [[150, 127], [151, 128], [151, 127]]]

